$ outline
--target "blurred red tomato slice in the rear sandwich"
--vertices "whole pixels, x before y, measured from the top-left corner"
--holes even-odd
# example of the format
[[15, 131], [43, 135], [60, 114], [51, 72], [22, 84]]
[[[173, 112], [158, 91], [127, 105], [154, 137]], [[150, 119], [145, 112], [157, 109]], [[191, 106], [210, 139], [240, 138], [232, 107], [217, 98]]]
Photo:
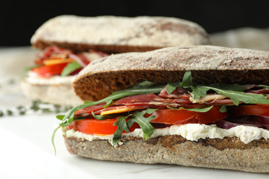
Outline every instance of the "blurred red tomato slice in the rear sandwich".
[[63, 68], [66, 67], [68, 63], [59, 63], [55, 65], [47, 65], [47, 66], [41, 66], [41, 67], [35, 67], [31, 71], [34, 73], [37, 73], [39, 76], [43, 77], [50, 77], [53, 75], [59, 75], [61, 74], [61, 71], [63, 71]]

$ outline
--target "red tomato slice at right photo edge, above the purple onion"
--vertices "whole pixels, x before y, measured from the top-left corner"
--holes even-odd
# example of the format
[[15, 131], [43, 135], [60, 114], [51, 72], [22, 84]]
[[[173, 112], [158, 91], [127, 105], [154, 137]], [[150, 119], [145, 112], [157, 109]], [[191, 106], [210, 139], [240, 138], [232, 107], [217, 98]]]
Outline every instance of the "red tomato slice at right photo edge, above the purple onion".
[[269, 105], [239, 105], [229, 110], [230, 116], [269, 116]]

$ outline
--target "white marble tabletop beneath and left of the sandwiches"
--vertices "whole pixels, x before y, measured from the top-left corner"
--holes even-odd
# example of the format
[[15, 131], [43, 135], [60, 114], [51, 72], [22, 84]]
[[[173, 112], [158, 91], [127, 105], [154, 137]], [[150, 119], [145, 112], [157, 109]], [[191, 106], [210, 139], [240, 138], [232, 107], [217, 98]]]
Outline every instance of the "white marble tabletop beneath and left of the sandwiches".
[[[21, 93], [19, 74], [32, 64], [36, 52], [31, 48], [0, 49], [0, 110], [29, 107]], [[12, 79], [12, 83], [8, 83]], [[6, 85], [3, 85], [6, 84]], [[51, 135], [58, 122], [56, 114], [30, 113], [24, 116], [6, 114], [0, 118], [0, 178], [268, 178], [268, 174], [176, 165], [139, 165], [126, 162], [91, 160], [72, 156], [66, 150], [61, 134], [55, 145]]]

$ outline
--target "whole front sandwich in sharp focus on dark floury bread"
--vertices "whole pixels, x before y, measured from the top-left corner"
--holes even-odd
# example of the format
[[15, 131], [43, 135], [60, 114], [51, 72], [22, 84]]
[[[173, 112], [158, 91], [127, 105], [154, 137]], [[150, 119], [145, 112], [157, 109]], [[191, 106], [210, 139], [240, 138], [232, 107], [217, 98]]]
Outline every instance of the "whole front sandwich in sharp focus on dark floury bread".
[[61, 129], [76, 156], [269, 173], [268, 73], [269, 52], [212, 45], [106, 56], [52, 143]]

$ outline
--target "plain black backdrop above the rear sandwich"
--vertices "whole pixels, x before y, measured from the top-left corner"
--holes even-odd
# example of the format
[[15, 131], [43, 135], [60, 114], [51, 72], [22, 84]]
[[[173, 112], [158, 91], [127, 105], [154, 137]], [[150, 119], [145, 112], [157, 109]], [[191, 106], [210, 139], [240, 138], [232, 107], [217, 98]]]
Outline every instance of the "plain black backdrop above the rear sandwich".
[[5, 1], [0, 8], [0, 46], [30, 45], [39, 26], [61, 14], [79, 16], [141, 15], [194, 21], [208, 33], [269, 28], [266, 1]]

